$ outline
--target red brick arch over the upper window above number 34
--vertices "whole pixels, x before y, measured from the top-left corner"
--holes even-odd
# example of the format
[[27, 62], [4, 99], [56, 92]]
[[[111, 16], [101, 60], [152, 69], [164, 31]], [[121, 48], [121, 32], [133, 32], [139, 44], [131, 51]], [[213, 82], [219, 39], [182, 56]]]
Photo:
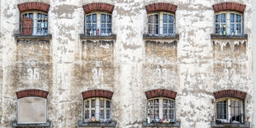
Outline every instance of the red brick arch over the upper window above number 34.
[[114, 5], [102, 2], [94, 2], [83, 5], [84, 13], [91, 13], [91, 12], [108, 12], [112, 13], [114, 10]]

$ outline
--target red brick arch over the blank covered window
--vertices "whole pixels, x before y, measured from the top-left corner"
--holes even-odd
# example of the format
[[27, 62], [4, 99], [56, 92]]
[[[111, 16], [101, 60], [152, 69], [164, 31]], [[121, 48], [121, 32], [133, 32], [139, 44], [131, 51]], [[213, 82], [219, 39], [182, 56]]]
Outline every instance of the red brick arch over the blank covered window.
[[20, 99], [22, 97], [43, 97], [47, 98], [49, 92], [38, 90], [38, 89], [27, 89], [16, 92], [17, 98]]

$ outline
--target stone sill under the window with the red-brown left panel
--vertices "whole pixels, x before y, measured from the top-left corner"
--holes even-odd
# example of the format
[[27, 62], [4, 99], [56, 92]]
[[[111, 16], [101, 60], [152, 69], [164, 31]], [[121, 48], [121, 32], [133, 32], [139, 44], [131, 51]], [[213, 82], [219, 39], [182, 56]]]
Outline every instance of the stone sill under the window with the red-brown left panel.
[[14, 35], [16, 40], [21, 40], [21, 39], [25, 39], [25, 40], [51, 40], [52, 36], [51, 34], [48, 34], [47, 36], [23, 36], [20, 34], [15, 34]]

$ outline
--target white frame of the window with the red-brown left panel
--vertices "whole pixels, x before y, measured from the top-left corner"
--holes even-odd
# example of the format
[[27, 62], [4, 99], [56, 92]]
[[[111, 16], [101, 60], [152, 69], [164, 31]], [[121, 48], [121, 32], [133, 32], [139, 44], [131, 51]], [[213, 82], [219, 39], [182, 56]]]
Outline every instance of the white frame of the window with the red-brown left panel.
[[[49, 16], [48, 16], [48, 13], [46, 12], [22, 12], [21, 15], [20, 15], [20, 32], [22, 32], [22, 16], [27, 14], [27, 16], [29, 16], [29, 14], [33, 14], [33, 17], [32, 17], [32, 35], [31, 36], [46, 36], [48, 34], [48, 19], [49, 19]], [[38, 14], [41, 14], [41, 16], [45, 15], [45, 19], [44, 20], [41, 20], [40, 24], [41, 24], [41, 28], [43, 31], [43, 29], [45, 29], [45, 32], [37, 32], [37, 24], [39, 23], [39, 19], [37, 18], [38, 17]], [[43, 18], [41, 18], [43, 19]]]

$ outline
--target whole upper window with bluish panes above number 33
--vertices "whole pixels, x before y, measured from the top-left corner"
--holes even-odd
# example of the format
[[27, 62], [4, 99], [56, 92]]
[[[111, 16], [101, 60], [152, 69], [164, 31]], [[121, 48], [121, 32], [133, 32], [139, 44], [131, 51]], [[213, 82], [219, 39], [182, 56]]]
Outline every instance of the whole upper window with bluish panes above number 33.
[[175, 35], [175, 17], [173, 13], [157, 12], [148, 15], [149, 36]]

